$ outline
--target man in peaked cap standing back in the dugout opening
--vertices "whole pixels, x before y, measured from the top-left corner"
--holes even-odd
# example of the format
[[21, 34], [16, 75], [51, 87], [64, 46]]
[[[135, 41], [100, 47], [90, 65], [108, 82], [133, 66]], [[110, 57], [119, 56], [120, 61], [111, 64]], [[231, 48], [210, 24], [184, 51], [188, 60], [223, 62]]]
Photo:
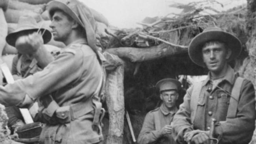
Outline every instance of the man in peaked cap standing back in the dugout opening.
[[181, 83], [172, 78], [157, 82], [162, 105], [150, 111], [144, 120], [138, 136], [138, 144], [176, 144], [172, 138], [172, 119], [178, 111], [176, 101], [179, 97]]

